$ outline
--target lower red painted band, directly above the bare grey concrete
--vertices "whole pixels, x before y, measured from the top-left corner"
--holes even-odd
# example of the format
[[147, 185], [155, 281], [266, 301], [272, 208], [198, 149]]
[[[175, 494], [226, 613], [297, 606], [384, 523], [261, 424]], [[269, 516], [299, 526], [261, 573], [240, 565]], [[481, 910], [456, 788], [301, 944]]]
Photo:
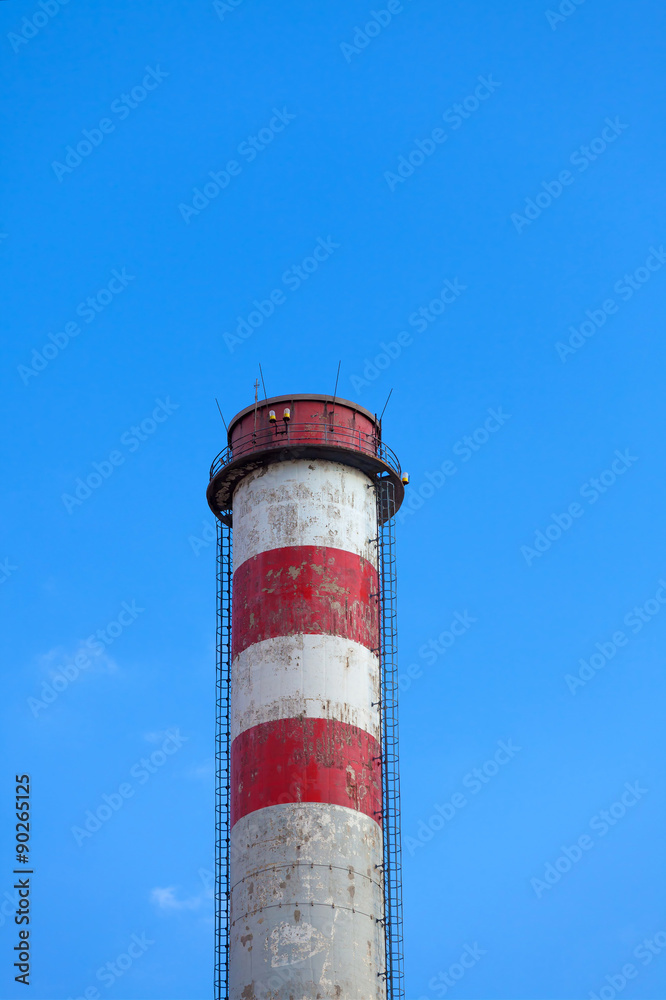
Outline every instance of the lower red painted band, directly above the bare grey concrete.
[[246, 729], [231, 747], [231, 823], [284, 802], [327, 802], [381, 825], [379, 744], [331, 719], [279, 719]]

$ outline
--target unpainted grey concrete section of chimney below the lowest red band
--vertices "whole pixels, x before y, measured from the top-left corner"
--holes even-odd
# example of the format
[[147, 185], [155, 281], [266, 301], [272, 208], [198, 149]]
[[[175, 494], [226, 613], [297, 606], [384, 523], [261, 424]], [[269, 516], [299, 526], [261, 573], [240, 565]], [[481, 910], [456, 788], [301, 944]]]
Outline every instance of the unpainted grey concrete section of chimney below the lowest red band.
[[232, 1000], [385, 1000], [382, 835], [341, 806], [273, 806], [234, 827]]

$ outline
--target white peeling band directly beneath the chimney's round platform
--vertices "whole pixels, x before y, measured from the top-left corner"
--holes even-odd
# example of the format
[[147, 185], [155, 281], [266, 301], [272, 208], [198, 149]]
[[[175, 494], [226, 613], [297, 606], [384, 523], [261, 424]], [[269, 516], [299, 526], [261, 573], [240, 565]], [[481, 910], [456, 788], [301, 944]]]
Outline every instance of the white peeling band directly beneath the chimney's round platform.
[[345, 549], [377, 565], [375, 491], [359, 469], [321, 459], [273, 462], [233, 498], [234, 570], [286, 545]]

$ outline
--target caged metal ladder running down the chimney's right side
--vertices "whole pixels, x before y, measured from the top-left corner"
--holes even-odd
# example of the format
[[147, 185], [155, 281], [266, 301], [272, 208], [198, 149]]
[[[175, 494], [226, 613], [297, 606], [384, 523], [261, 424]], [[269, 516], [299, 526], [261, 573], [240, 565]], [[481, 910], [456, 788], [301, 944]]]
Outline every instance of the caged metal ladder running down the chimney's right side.
[[404, 1000], [402, 930], [402, 848], [400, 841], [400, 768], [398, 755], [398, 628], [395, 557], [395, 484], [376, 479], [377, 556], [379, 572], [379, 660], [382, 737], [382, 819], [384, 929], [387, 1000]]

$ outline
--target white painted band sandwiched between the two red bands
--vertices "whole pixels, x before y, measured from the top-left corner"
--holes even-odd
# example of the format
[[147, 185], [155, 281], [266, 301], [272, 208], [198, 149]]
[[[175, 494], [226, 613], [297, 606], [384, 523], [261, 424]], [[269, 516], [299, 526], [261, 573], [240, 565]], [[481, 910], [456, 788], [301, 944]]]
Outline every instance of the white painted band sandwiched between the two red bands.
[[231, 667], [231, 738], [276, 719], [334, 719], [379, 740], [379, 660], [334, 635], [253, 643]]

